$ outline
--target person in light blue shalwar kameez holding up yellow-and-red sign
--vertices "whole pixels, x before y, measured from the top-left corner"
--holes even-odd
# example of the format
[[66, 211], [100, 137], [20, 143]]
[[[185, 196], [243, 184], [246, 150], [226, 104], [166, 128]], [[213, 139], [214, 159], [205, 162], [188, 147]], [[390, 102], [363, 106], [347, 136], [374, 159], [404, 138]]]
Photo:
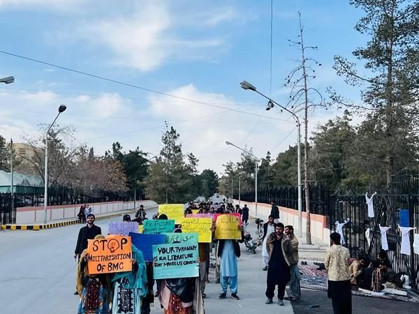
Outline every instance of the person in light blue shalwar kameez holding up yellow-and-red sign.
[[240, 257], [240, 245], [243, 243], [243, 228], [237, 226], [242, 232], [240, 240], [219, 240], [217, 256], [220, 257], [220, 285], [219, 299], [226, 299], [227, 289], [230, 286], [231, 297], [240, 300], [237, 295], [237, 257]]

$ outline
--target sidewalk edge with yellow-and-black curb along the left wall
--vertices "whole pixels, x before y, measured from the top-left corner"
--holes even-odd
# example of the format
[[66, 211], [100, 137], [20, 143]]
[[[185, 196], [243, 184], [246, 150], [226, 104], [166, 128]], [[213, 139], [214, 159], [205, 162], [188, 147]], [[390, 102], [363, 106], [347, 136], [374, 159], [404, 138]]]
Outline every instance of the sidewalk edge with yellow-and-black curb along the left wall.
[[[152, 210], [156, 209], [156, 206], [145, 207], [145, 210]], [[112, 214], [95, 214], [96, 220], [103, 220], [112, 217], [122, 216], [124, 214], [133, 214], [135, 209], [130, 209], [127, 211], [114, 211]], [[54, 222], [50, 223], [39, 223], [39, 224], [8, 224], [8, 225], [1, 225], [1, 230], [43, 230], [43, 229], [51, 229], [56, 227], [65, 227], [67, 225], [75, 225], [80, 223], [78, 219], [75, 218], [68, 218], [68, 219], [61, 219], [61, 220], [53, 220]]]

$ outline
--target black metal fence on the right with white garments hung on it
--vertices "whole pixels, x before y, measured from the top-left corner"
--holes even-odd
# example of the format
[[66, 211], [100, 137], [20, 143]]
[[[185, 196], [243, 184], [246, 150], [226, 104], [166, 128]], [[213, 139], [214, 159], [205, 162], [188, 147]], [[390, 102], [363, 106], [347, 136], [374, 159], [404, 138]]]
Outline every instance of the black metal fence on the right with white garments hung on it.
[[[369, 196], [375, 190], [369, 188]], [[305, 192], [305, 191], [304, 191]], [[305, 211], [304, 192], [302, 197]], [[344, 225], [345, 246], [351, 251], [352, 257], [367, 254], [376, 259], [381, 249], [381, 232], [379, 225], [390, 227], [388, 230], [388, 258], [397, 273], [405, 273], [411, 277], [412, 286], [419, 290], [419, 255], [413, 253], [413, 234], [419, 233], [419, 171], [404, 170], [392, 176], [392, 184], [388, 190], [376, 190], [374, 196], [374, 218], [368, 217], [365, 195], [357, 193], [342, 194], [326, 189], [324, 186], [311, 185], [311, 214], [320, 214], [328, 218], [330, 230], [335, 231], [337, 221], [348, 219]], [[258, 202], [270, 203], [272, 200], [279, 206], [297, 209], [297, 188], [281, 187], [273, 190], [258, 191]], [[254, 202], [254, 194], [242, 195], [241, 199]], [[400, 253], [402, 234], [399, 230], [400, 209], [409, 211], [409, 225], [414, 227], [410, 232], [411, 255]], [[365, 232], [370, 230], [370, 244]]]

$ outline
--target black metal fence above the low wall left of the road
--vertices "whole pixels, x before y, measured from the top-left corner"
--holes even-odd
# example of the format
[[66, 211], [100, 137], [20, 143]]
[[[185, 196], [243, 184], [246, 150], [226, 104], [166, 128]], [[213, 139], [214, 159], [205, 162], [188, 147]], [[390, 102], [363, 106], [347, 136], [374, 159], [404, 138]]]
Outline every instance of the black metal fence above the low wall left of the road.
[[[140, 195], [141, 196], [141, 195]], [[142, 195], [144, 196], [144, 195]], [[142, 198], [141, 198], [142, 199]], [[17, 207], [43, 206], [44, 195], [36, 193], [15, 193], [13, 208], [10, 193], [0, 193], [0, 224], [16, 223]], [[90, 195], [72, 188], [48, 188], [48, 205], [89, 204], [94, 202], [130, 201], [133, 195], [98, 190]]]

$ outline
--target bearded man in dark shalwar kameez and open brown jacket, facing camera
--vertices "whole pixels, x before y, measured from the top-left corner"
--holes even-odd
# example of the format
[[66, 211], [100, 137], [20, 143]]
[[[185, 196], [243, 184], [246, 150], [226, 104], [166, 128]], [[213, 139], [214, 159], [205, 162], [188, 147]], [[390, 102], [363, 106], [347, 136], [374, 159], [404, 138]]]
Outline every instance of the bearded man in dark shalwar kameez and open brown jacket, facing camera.
[[278, 303], [284, 305], [286, 283], [290, 280], [290, 262], [288, 257], [291, 253], [291, 243], [284, 235], [284, 224], [276, 223], [275, 232], [272, 232], [266, 241], [267, 253], [269, 254], [269, 267], [267, 269], [266, 304], [272, 304], [275, 287], [278, 285]]

